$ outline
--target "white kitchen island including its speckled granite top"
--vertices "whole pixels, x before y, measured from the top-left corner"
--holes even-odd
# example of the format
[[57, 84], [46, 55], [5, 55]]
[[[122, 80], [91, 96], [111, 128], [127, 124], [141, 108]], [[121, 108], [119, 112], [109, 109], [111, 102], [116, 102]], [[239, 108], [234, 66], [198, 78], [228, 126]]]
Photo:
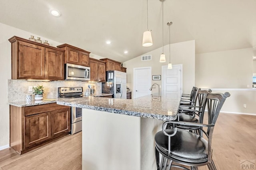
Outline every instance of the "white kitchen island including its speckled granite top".
[[155, 170], [154, 135], [176, 119], [178, 100], [144, 96], [132, 100], [59, 98], [57, 104], [82, 112], [83, 170]]

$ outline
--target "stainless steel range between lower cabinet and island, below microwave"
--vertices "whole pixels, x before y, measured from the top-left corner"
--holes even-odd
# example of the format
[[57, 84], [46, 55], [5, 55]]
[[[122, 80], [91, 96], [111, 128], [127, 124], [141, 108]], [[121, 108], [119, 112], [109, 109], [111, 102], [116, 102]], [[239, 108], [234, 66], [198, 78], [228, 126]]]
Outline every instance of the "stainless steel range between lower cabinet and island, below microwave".
[[[59, 98], [82, 98], [82, 87], [59, 87]], [[82, 108], [71, 107], [71, 134], [82, 131]]]

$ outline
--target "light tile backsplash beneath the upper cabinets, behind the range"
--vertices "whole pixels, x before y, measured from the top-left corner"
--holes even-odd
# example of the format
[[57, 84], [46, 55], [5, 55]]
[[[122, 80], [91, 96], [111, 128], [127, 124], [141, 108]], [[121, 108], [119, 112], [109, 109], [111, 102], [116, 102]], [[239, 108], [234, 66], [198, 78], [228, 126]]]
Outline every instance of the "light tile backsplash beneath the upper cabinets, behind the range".
[[[12, 80], [8, 79], [8, 102], [17, 102], [26, 100], [27, 94], [32, 94], [28, 92], [28, 86], [44, 86], [44, 96], [43, 98], [57, 98], [58, 97], [58, 87], [83, 87], [83, 94], [88, 88], [88, 85], [94, 86], [94, 93], [102, 93], [102, 83], [88, 83], [82, 81], [27, 81], [27, 80]], [[32, 100], [35, 96], [32, 95]]]

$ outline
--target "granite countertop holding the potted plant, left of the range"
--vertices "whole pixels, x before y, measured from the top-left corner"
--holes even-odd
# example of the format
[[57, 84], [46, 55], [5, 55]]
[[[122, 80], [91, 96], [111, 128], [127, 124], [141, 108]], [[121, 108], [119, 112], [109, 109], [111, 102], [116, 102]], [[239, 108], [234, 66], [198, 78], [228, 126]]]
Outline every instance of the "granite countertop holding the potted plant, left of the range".
[[58, 100], [58, 98], [32, 100], [31, 102], [26, 102], [26, 101], [8, 102], [8, 104], [10, 104], [12, 106], [17, 106], [17, 107], [26, 107], [26, 106], [36, 106], [36, 105], [40, 105], [40, 104], [56, 103], [56, 100]]

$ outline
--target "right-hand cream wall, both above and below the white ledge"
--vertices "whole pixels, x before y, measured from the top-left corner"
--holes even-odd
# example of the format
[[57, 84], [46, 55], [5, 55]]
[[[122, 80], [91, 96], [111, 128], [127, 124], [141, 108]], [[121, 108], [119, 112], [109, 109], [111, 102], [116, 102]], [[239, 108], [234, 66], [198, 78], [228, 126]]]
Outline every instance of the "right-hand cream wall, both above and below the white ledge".
[[230, 93], [222, 112], [256, 115], [252, 55], [252, 48], [196, 54], [196, 86]]

